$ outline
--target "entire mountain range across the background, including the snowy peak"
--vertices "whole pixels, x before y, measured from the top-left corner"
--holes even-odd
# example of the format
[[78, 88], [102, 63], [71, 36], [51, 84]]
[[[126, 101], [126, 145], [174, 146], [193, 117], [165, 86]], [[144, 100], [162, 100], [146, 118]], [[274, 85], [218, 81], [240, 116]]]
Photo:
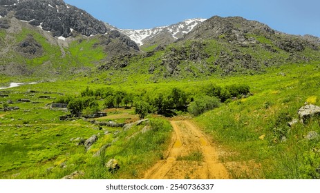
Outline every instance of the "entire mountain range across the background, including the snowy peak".
[[320, 61], [319, 38], [242, 17], [119, 30], [62, 0], [1, 0], [0, 16], [0, 74], [10, 77], [197, 79]]

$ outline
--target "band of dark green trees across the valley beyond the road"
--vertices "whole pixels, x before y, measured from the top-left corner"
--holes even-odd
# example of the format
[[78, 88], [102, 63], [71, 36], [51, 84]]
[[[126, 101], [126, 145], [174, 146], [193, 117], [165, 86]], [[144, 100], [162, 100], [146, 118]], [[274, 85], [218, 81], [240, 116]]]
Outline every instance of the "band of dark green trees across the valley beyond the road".
[[250, 94], [247, 85], [207, 85], [202, 92], [189, 94], [179, 88], [167, 89], [165, 92], [127, 93], [113, 88], [91, 90], [86, 88], [80, 96], [63, 96], [55, 103], [68, 103], [68, 109], [74, 116], [79, 116], [84, 110], [97, 112], [102, 108], [120, 108], [135, 106], [135, 113], [140, 119], [148, 113], [172, 114], [174, 111], [189, 111], [198, 116], [207, 110], [217, 108], [221, 102], [229, 102], [232, 98], [241, 98]]

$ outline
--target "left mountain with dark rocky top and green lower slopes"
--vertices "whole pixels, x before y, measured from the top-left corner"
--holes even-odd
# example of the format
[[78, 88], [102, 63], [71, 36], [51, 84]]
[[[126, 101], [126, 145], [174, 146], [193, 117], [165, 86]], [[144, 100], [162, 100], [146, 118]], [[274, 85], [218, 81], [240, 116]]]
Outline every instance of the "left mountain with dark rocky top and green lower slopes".
[[0, 74], [56, 77], [91, 69], [138, 45], [62, 0], [0, 1]]

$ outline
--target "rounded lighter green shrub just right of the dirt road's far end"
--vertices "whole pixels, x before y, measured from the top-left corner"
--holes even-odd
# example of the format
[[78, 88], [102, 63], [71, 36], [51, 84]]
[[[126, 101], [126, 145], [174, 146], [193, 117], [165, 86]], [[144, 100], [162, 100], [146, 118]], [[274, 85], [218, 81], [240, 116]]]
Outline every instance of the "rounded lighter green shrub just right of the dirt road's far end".
[[194, 116], [198, 116], [199, 114], [203, 114], [208, 110], [218, 108], [219, 105], [220, 101], [216, 97], [200, 96], [198, 99], [195, 99], [194, 102], [190, 103], [188, 112], [194, 114]]

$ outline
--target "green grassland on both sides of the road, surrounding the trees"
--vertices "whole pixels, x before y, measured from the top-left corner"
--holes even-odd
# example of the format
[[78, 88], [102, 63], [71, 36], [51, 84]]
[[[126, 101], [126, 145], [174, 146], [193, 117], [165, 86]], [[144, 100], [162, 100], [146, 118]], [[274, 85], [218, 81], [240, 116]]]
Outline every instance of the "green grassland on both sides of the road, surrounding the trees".
[[[160, 130], [139, 131], [146, 125], [132, 130], [99, 127], [82, 119], [59, 121], [68, 114], [51, 110], [47, 105], [61, 94], [80, 95], [87, 86], [96, 90], [111, 87], [137, 95], [151, 96], [169, 93], [178, 88], [188, 97], [204, 94], [209, 85], [245, 83], [253, 96], [227, 101], [219, 108], [194, 117], [198, 125], [212, 136], [225, 154], [220, 159], [233, 178], [245, 179], [318, 179], [320, 165], [319, 138], [307, 140], [311, 132], [320, 132], [319, 118], [292, 128], [288, 121], [297, 118], [297, 110], [305, 102], [320, 105], [319, 62], [289, 64], [281, 68], [267, 68], [264, 74], [236, 77], [211, 77], [199, 81], [168, 81], [167, 83], [134, 82], [106, 85], [95, 83], [95, 77], [78, 78], [78, 81], [39, 83], [19, 88], [1, 90], [2, 105], [8, 100], [19, 110], [0, 112], [1, 176], [3, 179], [59, 179], [75, 171], [82, 171], [76, 178], [141, 178], [144, 171], [162, 159], [170, 139], [170, 126], [163, 118], [151, 119], [164, 125]], [[147, 74], [145, 75], [147, 76]], [[10, 79], [8, 79], [10, 80]], [[37, 92], [33, 92], [37, 91]], [[50, 98], [40, 98], [40, 96]], [[18, 102], [30, 99], [30, 103]], [[104, 101], [98, 101], [104, 109]], [[1, 106], [0, 106], [1, 108]], [[100, 121], [131, 122], [138, 119], [132, 110], [107, 110], [109, 116]], [[177, 112], [188, 115], [187, 112]], [[114, 114], [114, 115], [113, 115]], [[113, 115], [113, 116], [112, 116]], [[117, 116], [115, 116], [117, 115]], [[154, 115], [149, 115], [152, 117]], [[110, 117], [110, 118], [109, 118]], [[161, 117], [161, 116], [160, 116]], [[106, 132], [109, 134], [104, 135]], [[98, 141], [86, 152], [75, 139], [88, 139], [100, 135]], [[93, 156], [103, 145], [112, 143], [101, 156]], [[13, 152], [13, 153], [12, 153]], [[120, 162], [120, 170], [109, 172], [104, 164], [109, 159]]]

